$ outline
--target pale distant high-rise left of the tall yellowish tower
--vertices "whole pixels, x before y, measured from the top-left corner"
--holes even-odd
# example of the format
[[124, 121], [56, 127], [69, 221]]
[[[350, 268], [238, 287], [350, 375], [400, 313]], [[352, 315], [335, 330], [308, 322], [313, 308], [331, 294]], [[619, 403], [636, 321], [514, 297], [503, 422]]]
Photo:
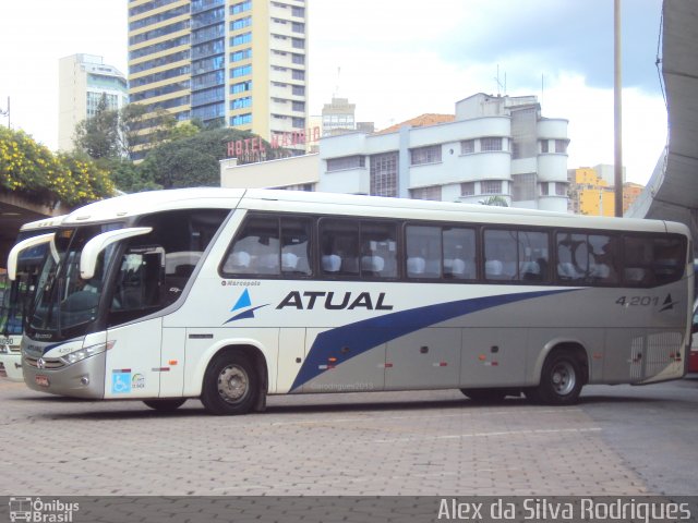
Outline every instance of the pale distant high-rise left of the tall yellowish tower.
[[95, 114], [101, 98], [107, 108], [129, 101], [127, 78], [94, 54], [72, 54], [58, 62], [58, 148], [72, 150], [75, 125]]

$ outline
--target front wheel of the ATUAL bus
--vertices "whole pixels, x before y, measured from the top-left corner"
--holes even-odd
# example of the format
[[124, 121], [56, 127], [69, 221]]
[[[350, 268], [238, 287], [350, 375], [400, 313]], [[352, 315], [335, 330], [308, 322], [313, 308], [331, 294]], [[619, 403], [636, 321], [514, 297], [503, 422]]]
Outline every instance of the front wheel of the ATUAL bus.
[[201, 402], [217, 416], [246, 414], [254, 408], [258, 390], [252, 362], [239, 352], [224, 352], [206, 369]]

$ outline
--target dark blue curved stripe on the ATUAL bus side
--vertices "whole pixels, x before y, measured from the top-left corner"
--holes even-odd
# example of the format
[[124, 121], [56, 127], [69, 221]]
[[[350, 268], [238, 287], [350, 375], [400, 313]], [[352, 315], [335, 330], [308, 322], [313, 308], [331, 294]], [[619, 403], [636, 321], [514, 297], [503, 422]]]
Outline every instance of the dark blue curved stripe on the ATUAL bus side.
[[[577, 289], [500, 294], [440, 303], [399, 313], [385, 314], [376, 318], [364, 319], [321, 332], [315, 338], [308, 353], [308, 357], [305, 362], [303, 362], [303, 366], [291, 386], [291, 392], [321, 375], [325, 368], [327, 368], [328, 357], [336, 358], [330, 364], [333, 367], [336, 367], [382, 343], [446, 321], [447, 319], [477, 313], [485, 308], [575, 290]], [[351, 346], [351, 353], [342, 354], [340, 349], [347, 345]]]

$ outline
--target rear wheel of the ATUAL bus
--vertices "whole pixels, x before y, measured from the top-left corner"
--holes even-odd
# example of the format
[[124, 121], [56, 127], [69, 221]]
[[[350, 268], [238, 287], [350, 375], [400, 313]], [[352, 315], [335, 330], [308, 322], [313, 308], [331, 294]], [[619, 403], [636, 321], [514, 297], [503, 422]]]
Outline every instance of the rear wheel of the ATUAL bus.
[[556, 351], [545, 358], [541, 382], [528, 398], [549, 405], [577, 403], [583, 385], [583, 370], [579, 358], [570, 351]]

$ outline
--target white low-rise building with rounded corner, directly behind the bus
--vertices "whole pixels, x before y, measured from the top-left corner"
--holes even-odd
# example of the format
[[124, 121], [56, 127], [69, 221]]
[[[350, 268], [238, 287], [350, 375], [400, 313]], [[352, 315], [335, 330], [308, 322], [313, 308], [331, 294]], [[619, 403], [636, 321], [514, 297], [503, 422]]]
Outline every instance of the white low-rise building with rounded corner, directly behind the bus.
[[[454, 115], [419, 117], [387, 132], [323, 137], [309, 163], [285, 162], [267, 183], [264, 163], [221, 163], [226, 187], [314, 191], [567, 211], [567, 120], [540, 114], [535, 97], [478, 94]], [[438, 117], [438, 118], [436, 118]], [[437, 122], [437, 123], [434, 123]], [[290, 160], [296, 160], [291, 158]], [[224, 174], [225, 173], [225, 174]]]

